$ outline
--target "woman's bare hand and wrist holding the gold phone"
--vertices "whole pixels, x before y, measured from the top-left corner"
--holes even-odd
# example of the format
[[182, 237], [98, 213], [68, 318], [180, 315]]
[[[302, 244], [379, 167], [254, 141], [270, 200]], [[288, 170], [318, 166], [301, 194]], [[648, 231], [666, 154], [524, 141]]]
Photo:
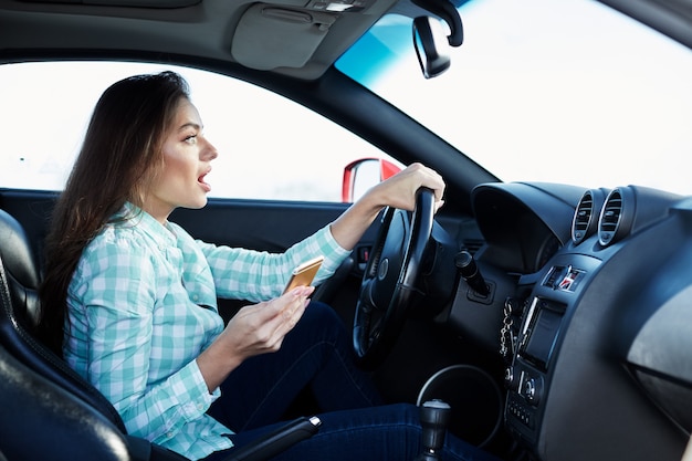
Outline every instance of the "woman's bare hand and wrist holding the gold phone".
[[271, 301], [244, 306], [219, 337], [197, 358], [209, 391], [213, 391], [244, 359], [273, 353], [298, 323], [314, 286], [298, 286]]

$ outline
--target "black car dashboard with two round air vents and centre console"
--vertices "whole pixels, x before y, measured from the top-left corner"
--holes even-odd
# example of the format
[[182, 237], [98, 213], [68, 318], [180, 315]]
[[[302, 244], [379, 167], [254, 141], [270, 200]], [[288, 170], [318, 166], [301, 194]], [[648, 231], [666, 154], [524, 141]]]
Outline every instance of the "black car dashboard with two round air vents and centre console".
[[692, 199], [487, 184], [472, 202], [490, 293], [461, 282], [447, 322], [504, 356], [513, 439], [537, 460], [680, 460], [692, 430]]

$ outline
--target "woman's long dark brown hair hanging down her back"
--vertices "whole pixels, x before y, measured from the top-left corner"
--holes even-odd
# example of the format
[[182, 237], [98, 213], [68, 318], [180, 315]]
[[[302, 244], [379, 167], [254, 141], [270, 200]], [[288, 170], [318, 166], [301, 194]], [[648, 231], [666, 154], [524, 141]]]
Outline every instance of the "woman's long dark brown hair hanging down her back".
[[126, 201], [141, 206], [162, 164], [161, 143], [187, 82], [177, 73], [136, 75], [108, 87], [53, 211], [40, 290], [41, 339], [62, 356], [67, 287], [84, 248]]

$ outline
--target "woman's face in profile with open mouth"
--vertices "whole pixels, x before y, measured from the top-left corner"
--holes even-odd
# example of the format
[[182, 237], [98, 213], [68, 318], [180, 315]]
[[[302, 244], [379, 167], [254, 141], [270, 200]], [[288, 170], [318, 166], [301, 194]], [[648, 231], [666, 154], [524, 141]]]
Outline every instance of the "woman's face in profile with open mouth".
[[202, 122], [188, 99], [180, 99], [174, 124], [164, 135], [164, 166], [151, 181], [144, 210], [165, 222], [178, 207], [202, 208], [211, 186], [205, 177], [211, 171], [217, 149], [202, 135]]

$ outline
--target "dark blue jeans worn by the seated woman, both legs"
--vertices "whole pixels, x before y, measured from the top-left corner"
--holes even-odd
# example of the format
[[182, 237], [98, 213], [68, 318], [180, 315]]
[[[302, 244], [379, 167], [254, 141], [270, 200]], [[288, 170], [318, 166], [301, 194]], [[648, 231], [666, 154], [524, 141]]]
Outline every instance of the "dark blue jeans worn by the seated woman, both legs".
[[[276, 461], [407, 461], [420, 453], [418, 408], [381, 405], [369, 376], [355, 366], [343, 322], [321, 303], [310, 304], [279, 352], [250, 358], [231, 373], [209, 413], [232, 429], [233, 443], [242, 447], [281, 426], [305, 387], [321, 408], [322, 426]], [[206, 460], [228, 454], [217, 452]], [[440, 454], [442, 461], [495, 459], [450, 434]]]

